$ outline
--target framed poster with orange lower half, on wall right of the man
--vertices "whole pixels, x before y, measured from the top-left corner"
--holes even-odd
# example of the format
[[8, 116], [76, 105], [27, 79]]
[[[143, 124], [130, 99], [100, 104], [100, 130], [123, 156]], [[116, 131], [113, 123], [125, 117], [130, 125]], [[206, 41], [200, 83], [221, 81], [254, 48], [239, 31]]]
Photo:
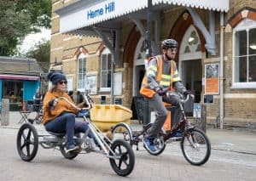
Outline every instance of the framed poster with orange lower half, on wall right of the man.
[[205, 94], [219, 93], [219, 65], [205, 65]]

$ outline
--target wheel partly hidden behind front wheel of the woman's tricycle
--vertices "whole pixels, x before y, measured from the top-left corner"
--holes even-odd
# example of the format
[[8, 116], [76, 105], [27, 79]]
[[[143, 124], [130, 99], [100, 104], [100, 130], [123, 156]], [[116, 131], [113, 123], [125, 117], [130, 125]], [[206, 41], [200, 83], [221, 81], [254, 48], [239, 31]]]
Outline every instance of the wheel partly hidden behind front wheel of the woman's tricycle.
[[124, 123], [119, 123], [112, 128], [113, 139], [124, 139], [132, 146], [132, 133]]

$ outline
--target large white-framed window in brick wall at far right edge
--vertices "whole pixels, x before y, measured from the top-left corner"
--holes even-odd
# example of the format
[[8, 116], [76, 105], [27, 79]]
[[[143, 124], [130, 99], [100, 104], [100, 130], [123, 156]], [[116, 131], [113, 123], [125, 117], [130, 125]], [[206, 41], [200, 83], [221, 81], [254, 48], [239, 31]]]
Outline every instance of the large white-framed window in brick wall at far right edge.
[[256, 27], [235, 32], [234, 82], [256, 82]]

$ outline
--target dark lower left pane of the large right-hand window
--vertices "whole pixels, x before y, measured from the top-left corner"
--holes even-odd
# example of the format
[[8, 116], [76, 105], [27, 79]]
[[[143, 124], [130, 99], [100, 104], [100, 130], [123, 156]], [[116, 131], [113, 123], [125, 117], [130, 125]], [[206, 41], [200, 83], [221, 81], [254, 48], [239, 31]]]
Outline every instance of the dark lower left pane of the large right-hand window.
[[235, 59], [235, 82], [247, 82], [247, 57], [236, 57]]

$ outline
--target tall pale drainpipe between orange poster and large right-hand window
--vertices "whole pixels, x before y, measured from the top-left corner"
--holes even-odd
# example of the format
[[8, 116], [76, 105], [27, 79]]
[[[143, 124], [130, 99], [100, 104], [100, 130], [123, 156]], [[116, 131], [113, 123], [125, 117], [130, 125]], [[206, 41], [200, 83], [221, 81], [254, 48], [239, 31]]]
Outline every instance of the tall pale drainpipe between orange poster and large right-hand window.
[[220, 110], [219, 125], [223, 129], [224, 124], [224, 12], [220, 13], [220, 67], [219, 67], [219, 93], [220, 93]]

